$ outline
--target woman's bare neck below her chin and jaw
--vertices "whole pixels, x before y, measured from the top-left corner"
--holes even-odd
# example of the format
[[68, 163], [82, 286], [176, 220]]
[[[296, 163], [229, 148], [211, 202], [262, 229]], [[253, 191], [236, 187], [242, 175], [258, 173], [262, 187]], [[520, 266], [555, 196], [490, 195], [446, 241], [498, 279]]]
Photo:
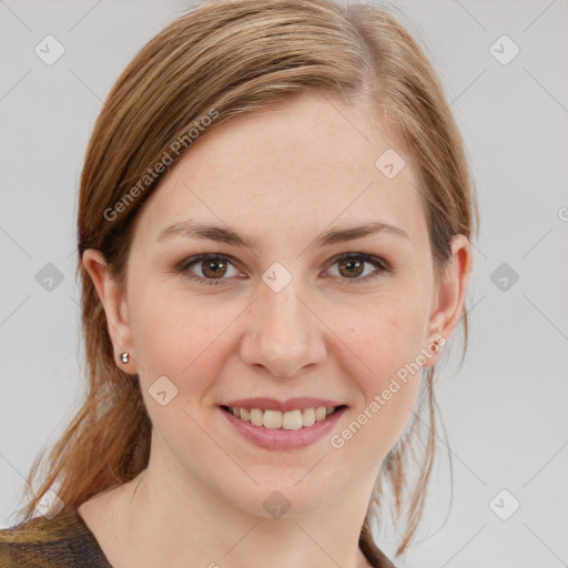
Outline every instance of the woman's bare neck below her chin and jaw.
[[116, 568], [369, 566], [358, 538], [376, 471], [317, 510], [271, 518], [232, 506], [166, 453], [153, 444], [149, 467], [108, 494], [101, 526], [112, 532], [104, 551]]

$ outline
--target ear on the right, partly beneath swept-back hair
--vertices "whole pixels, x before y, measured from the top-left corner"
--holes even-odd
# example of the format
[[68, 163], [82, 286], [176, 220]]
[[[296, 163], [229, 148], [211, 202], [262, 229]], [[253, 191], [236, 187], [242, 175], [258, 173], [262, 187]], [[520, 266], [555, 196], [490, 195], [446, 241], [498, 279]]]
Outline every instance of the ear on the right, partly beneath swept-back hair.
[[[433, 313], [428, 323], [428, 353], [433, 353], [424, 368], [432, 367], [440, 357], [442, 347], [462, 317], [467, 283], [473, 266], [473, 248], [465, 235], [452, 239], [452, 257], [440, 275], [433, 298]], [[436, 344], [436, 338], [438, 342]], [[437, 351], [436, 351], [437, 349]]]

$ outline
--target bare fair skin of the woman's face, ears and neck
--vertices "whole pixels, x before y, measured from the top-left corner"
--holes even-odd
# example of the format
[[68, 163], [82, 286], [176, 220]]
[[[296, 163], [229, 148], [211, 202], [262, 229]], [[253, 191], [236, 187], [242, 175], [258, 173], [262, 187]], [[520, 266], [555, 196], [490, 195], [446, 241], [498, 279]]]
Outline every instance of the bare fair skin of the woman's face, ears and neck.
[[[406, 161], [392, 180], [375, 166], [389, 148]], [[148, 469], [79, 508], [115, 568], [368, 566], [361, 526], [381, 463], [412, 416], [420, 373], [342, 448], [324, 436], [302, 449], [262, 449], [219, 405], [331, 398], [348, 406], [337, 434], [420, 348], [450, 336], [471, 247], [454, 236], [452, 261], [436, 277], [415, 172], [367, 105], [302, 95], [194, 143], [136, 217], [123, 287], [99, 252], [84, 252], [116, 364], [139, 374], [153, 424]], [[189, 219], [230, 226], [256, 246], [185, 236], [156, 243], [164, 227]], [[331, 227], [368, 221], [407, 237], [382, 232], [314, 244]], [[392, 271], [366, 263], [354, 283], [333, 262], [345, 252], [384, 258]], [[176, 273], [201, 253], [227, 255], [229, 264], [215, 272], [199, 262]], [[262, 280], [275, 262], [292, 275], [280, 292]], [[217, 284], [207, 285], [215, 274]], [[162, 375], [178, 388], [165, 406], [149, 394]], [[274, 490], [290, 503], [277, 519], [263, 508]]]

